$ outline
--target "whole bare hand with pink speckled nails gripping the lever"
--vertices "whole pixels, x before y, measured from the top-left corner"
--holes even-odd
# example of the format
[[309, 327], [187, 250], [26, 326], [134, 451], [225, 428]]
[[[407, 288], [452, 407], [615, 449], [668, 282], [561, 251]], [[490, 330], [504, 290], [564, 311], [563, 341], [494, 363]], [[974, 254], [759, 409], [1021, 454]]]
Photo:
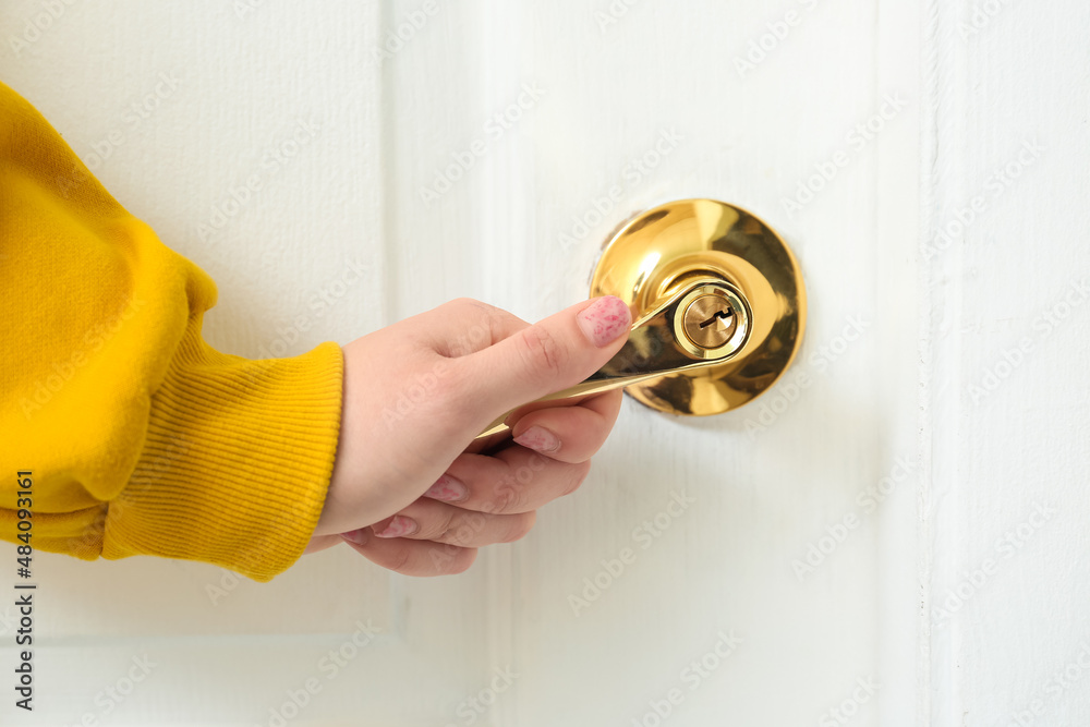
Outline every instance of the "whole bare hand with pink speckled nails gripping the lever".
[[482, 545], [525, 535], [537, 508], [586, 476], [620, 391], [532, 411], [508, 434], [474, 439], [505, 412], [601, 368], [630, 326], [613, 296], [533, 326], [458, 300], [346, 346], [337, 460], [307, 552], [344, 540], [390, 570], [438, 575], [469, 568]]

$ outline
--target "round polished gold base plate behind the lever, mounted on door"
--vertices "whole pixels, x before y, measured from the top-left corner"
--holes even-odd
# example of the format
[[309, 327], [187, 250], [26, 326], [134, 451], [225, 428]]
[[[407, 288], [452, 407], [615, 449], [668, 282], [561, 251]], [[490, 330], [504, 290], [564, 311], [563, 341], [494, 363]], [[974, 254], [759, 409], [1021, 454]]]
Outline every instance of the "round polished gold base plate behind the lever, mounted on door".
[[591, 296], [617, 295], [639, 318], [687, 280], [717, 276], [749, 302], [752, 332], [730, 361], [626, 388], [670, 414], [720, 414], [755, 399], [799, 350], [807, 304], [802, 274], [787, 244], [759, 218], [715, 199], [681, 199], [629, 220], [606, 243]]

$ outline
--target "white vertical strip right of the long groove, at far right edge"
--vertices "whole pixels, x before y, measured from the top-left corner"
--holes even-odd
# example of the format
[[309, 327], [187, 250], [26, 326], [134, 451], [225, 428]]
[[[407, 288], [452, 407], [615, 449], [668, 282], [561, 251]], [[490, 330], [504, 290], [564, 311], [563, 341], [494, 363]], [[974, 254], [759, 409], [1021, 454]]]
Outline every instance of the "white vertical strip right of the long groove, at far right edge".
[[929, 712], [1088, 724], [1090, 10], [974, 4], [925, 28]]

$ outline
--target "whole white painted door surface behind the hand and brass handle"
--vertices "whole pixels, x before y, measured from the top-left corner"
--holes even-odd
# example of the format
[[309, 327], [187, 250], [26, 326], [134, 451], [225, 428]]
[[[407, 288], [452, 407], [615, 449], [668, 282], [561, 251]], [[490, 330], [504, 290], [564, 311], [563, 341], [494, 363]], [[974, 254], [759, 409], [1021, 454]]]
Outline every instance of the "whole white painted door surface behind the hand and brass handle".
[[809, 316], [743, 409], [627, 401], [583, 487], [460, 577], [43, 558], [38, 712], [0, 722], [1090, 724], [1088, 25], [1074, 0], [9, 0], [3, 81], [213, 276], [221, 350], [461, 295], [537, 319], [686, 197], [775, 228]]

